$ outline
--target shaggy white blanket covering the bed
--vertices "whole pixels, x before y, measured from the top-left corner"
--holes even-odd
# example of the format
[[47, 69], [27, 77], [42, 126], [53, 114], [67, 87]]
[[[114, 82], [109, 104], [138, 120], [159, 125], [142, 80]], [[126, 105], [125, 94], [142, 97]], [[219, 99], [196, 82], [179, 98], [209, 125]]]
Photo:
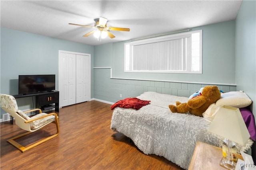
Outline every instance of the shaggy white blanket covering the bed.
[[[144, 92], [136, 98], [150, 101], [150, 104], [138, 110], [115, 107], [110, 128], [132, 139], [144, 154], [164, 156], [188, 169], [197, 141], [222, 146], [223, 138], [207, 131], [210, 122], [204, 117], [170, 111], [170, 104], [187, 102], [188, 98], [156, 92]], [[238, 147], [246, 151], [252, 143], [248, 139], [246, 145]]]

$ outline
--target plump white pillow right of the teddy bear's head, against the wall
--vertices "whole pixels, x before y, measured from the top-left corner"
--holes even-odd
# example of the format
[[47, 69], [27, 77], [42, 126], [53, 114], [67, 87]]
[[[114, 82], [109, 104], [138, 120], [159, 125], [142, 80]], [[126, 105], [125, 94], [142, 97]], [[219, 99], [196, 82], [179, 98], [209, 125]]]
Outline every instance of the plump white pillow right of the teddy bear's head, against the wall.
[[245, 92], [226, 92], [220, 95], [220, 99], [216, 102], [216, 105], [243, 108], [249, 106], [251, 103], [252, 100]]

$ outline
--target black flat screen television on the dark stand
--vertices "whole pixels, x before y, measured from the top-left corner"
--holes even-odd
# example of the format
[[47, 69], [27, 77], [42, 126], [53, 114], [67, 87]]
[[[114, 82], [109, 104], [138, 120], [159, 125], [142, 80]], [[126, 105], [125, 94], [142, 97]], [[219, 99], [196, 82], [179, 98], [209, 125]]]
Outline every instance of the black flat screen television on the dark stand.
[[19, 94], [35, 94], [55, 90], [55, 74], [19, 75]]

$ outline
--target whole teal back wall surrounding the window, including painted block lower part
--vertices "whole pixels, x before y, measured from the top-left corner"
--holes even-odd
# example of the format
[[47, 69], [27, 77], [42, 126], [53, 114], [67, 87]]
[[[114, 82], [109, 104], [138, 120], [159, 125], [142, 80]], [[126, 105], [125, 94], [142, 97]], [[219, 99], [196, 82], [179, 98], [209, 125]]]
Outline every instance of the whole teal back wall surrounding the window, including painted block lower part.
[[224, 92], [236, 91], [235, 21], [196, 27], [192, 31], [198, 29], [203, 30], [203, 74], [127, 73], [124, 43], [129, 41], [95, 46], [94, 66], [112, 67], [112, 78], [110, 68], [94, 69], [94, 98], [114, 103], [147, 91], [189, 97], [208, 84], [217, 85]]

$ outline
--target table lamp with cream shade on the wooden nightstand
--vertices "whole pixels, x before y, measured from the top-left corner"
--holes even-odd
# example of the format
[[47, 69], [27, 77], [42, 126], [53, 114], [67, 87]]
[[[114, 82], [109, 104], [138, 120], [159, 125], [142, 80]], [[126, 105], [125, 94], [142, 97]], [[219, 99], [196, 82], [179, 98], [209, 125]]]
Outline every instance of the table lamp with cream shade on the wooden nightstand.
[[208, 131], [227, 139], [228, 152], [226, 158], [222, 157], [220, 160], [220, 166], [234, 170], [236, 163], [233, 162], [230, 143], [233, 141], [245, 145], [250, 138], [240, 110], [235, 107], [221, 106]]

